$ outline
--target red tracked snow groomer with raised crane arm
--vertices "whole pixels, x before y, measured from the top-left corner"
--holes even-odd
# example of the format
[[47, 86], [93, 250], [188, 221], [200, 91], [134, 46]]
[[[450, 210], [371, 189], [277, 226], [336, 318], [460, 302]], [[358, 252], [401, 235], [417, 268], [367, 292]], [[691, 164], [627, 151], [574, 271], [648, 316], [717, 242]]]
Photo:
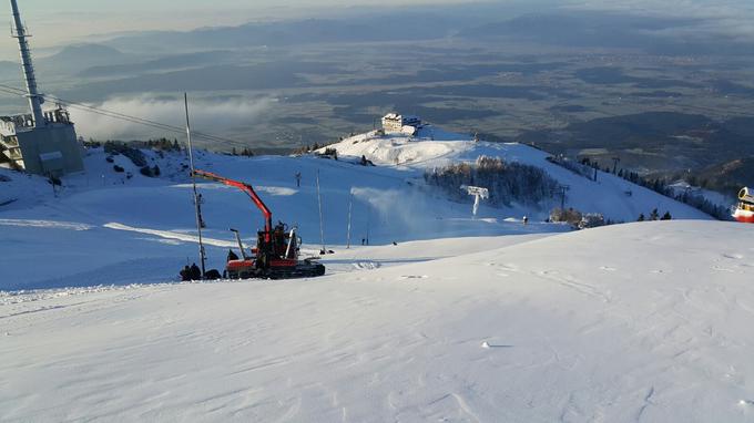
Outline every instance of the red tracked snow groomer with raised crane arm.
[[241, 257], [227, 260], [225, 271], [228, 278], [291, 279], [325, 275], [325, 266], [322, 264], [308, 258], [298, 259], [300, 238], [296, 236], [296, 228], [288, 230], [287, 225], [283, 223], [273, 227], [272, 212], [251, 185], [205, 171], [194, 171], [194, 175], [243, 190], [264, 215], [264, 230], [257, 233], [256, 247], [252, 248], [251, 256], [246, 254], [238, 231], [231, 229], [238, 243]]

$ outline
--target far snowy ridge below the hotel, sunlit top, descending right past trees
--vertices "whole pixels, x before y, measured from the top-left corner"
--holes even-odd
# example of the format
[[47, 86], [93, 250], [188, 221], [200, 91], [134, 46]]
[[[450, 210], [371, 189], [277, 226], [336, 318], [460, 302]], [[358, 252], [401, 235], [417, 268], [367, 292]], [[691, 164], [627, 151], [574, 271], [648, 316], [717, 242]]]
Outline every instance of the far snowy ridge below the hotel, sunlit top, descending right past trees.
[[[567, 206], [583, 213], [601, 213], [613, 221], [635, 221], [640, 214], [648, 216], [653, 208], [670, 212], [674, 218], [709, 219], [710, 216], [650, 189], [636, 186], [615, 175], [599, 172], [598, 180], [590, 180], [547, 161], [548, 153], [517, 143], [473, 142], [467, 135], [444, 132], [435, 127], [421, 130], [419, 136], [367, 133], [330, 145], [343, 156], [361, 157], [381, 165], [397, 165], [424, 172], [450, 163], [475, 162], [479, 156], [501, 157], [544, 169], [561, 185], [569, 187]], [[630, 193], [630, 195], [626, 195]], [[541, 210], [521, 210], [544, 219], [554, 199]]]

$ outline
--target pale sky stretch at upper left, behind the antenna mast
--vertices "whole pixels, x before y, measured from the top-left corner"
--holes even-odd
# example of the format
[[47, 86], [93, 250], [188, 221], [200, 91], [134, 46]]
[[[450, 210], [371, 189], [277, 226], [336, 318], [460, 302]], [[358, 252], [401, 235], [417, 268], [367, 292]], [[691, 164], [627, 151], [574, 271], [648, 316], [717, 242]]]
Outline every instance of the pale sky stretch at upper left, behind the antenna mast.
[[[188, 30], [233, 25], [255, 20], [322, 16], [328, 9], [365, 6], [399, 6], [463, 2], [462, 0], [17, 0], [34, 35], [32, 47], [42, 49], [90, 34], [153, 29]], [[0, 22], [10, 25], [10, 0], [0, 8]], [[0, 3], [1, 4], [1, 3]], [[14, 41], [0, 35], [0, 58], [8, 58]], [[40, 51], [43, 53], [43, 51]], [[14, 52], [13, 52], [14, 54]]]

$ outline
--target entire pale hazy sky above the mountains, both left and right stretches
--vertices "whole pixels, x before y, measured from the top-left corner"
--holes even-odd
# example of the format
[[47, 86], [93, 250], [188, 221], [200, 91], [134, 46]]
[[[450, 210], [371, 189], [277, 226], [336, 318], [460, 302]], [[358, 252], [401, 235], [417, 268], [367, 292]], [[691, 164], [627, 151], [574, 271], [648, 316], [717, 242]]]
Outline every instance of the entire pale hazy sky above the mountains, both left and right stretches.
[[[10, 24], [10, 1], [0, 8]], [[326, 16], [344, 10], [401, 4], [473, 3], [463, 0], [18, 0], [24, 21], [35, 35], [32, 47], [85, 41], [86, 35], [152, 29], [188, 30], [241, 24], [248, 21]], [[639, 12], [693, 14], [730, 20], [732, 27], [751, 28], [752, 0], [497, 0], [495, 3], [552, 3], [573, 9], [621, 9]], [[743, 13], [743, 11], [747, 13]], [[742, 19], [743, 18], [743, 19]], [[0, 20], [2, 21], [2, 20]], [[95, 41], [95, 39], [94, 39]], [[0, 58], [16, 55], [14, 41], [0, 35]], [[10, 54], [9, 54], [10, 53]]]

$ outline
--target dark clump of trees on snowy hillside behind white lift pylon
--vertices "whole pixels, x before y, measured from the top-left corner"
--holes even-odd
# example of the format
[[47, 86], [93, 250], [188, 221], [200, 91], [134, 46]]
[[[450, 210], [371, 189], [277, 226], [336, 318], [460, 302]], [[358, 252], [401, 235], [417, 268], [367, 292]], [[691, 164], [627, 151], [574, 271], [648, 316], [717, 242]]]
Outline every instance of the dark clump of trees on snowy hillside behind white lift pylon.
[[485, 187], [490, 194], [489, 203], [495, 206], [512, 203], [539, 206], [559, 189], [558, 182], [539, 167], [488, 156], [480, 156], [473, 164], [458, 163], [428, 171], [424, 176], [429, 185], [439, 187], [456, 200], [468, 197], [460, 189], [461, 185]]

